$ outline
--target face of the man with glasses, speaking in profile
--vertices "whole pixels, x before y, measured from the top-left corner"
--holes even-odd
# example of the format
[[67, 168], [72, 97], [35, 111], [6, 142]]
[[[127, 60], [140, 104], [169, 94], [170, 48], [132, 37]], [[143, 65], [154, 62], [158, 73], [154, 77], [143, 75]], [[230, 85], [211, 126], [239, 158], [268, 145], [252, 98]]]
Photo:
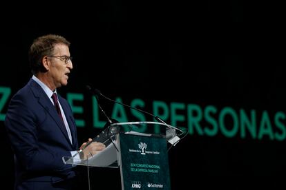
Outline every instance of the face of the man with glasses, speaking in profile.
[[73, 63], [68, 60], [65, 63], [65, 56], [70, 56], [67, 45], [57, 44], [52, 56], [49, 56], [50, 65], [48, 75], [50, 76], [50, 85], [52, 87], [61, 87], [68, 84], [68, 74], [73, 69]]

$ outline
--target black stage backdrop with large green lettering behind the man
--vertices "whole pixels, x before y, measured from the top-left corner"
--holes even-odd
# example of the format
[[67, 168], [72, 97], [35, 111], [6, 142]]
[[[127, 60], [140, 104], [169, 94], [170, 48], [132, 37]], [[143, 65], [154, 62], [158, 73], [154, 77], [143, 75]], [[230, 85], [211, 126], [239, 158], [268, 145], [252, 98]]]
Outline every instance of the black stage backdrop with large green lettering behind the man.
[[[32, 76], [32, 40], [49, 33], [71, 42], [73, 71], [59, 94], [73, 107], [79, 143], [106, 123], [86, 90], [92, 85], [188, 130], [168, 152], [172, 189], [232, 189], [249, 182], [258, 187], [269, 181], [249, 179], [284, 176], [285, 66], [273, 56], [271, 41], [260, 41], [265, 33], [243, 23], [240, 2], [204, 1], [189, 8], [109, 2], [79, 8], [84, 14], [49, 21], [48, 27], [20, 19], [1, 30], [0, 175], [8, 187], [14, 166], [3, 120], [10, 98]], [[153, 120], [111, 101], [100, 104], [122, 122]], [[93, 168], [90, 174], [94, 188], [121, 187], [119, 169]]]

